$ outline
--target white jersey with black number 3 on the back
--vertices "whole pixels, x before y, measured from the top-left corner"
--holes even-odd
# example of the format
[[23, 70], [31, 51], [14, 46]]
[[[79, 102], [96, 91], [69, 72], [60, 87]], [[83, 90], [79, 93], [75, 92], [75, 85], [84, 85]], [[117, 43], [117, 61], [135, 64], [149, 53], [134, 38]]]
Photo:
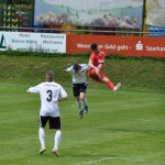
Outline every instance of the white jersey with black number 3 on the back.
[[59, 117], [58, 99], [66, 98], [65, 89], [55, 81], [41, 82], [35, 87], [31, 87], [30, 92], [38, 92], [41, 97], [40, 116]]

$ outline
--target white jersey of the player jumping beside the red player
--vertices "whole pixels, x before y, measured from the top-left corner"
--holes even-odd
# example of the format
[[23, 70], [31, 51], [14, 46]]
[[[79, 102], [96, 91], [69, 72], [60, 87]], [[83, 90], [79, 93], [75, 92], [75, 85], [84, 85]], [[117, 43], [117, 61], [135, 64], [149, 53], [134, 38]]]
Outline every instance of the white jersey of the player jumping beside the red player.
[[75, 69], [73, 69], [73, 66], [66, 69], [73, 75], [73, 84], [84, 84], [87, 81], [86, 72], [89, 69], [89, 66], [88, 64], [79, 64], [79, 65], [80, 65], [80, 69], [78, 74], [75, 73]]

